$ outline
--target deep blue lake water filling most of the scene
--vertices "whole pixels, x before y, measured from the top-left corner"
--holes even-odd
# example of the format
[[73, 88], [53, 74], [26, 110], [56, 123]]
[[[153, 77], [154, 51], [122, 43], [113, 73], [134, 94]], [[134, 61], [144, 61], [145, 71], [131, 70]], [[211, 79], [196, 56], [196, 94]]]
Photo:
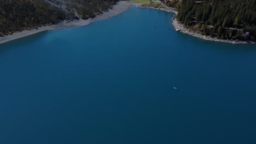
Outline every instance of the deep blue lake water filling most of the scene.
[[255, 45], [171, 17], [133, 6], [1, 44], [0, 143], [256, 143]]

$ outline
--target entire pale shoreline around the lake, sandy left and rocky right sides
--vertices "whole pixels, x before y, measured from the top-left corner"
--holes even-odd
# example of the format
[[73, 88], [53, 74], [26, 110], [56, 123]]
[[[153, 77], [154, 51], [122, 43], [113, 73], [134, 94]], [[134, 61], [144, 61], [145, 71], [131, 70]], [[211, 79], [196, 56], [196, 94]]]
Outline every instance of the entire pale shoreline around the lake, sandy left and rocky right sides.
[[[109, 17], [123, 13], [124, 11], [128, 10], [132, 4], [136, 5], [137, 8], [141, 8], [141, 9], [156, 9], [156, 10], [167, 11], [169, 13], [174, 13], [176, 15], [178, 14], [178, 11], [176, 11], [172, 8], [167, 8], [167, 7], [166, 8], [155, 8], [150, 5], [142, 5], [143, 3], [135, 3], [135, 2], [131, 2], [131, 1], [119, 1], [117, 4], [113, 5], [112, 9], [109, 9], [108, 11], [104, 11], [103, 14], [97, 15], [94, 18], [91, 18], [88, 20], [80, 19], [80, 20], [62, 21], [55, 25], [42, 26], [42, 27], [33, 28], [30, 30], [26, 30], [26, 31], [16, 32], [11, 35], [0, 37], [0, 44], [6, 43], [11, 40], [27, 37], [28, 35], [36, 34], [36, 33], [43, 32], [43, 31], [51, 31], [51, 30], [57, 30], [57, 29], [86, 26], [92, 22], [108, 19]], [[181, 22], [177, 21], [175, 18], [172, 22], [172, 25], [174, 26], [174, 28], [177, 32], [189, 34], [195, 38], [199, 38], [199, 39], [203, 39], [203, 40], [210, 40], [210, 41], [217, 41], [217, 42], [231, 43], [231, 44], [256, 44], [256, 41], [217, 39], [217, 38], [212, 38], [207, 35], [201, 35], [199, 32], [191, 31], [190, 29], [184, 27], [184, 25]]]

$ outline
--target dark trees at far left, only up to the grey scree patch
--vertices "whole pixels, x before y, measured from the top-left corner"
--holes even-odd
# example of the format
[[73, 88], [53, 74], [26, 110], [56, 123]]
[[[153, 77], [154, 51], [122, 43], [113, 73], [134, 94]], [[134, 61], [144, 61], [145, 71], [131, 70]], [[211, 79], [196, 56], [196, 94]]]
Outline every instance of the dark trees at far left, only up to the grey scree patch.
[[43, 0], [0, 0], [0, 35], [63, 20], [66, 13]]

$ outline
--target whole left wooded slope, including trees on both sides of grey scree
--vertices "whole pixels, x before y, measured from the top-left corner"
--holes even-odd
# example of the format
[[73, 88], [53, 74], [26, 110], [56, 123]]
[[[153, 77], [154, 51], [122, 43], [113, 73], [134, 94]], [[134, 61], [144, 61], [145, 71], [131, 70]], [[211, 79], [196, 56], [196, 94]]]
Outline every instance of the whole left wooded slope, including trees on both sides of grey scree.
[[[0, 0], [0, 36], [52, 25], [67, 19], [88, 19], [112, 8], [118, 0]], [[62, 9], [61, 4], [67, 9]]]

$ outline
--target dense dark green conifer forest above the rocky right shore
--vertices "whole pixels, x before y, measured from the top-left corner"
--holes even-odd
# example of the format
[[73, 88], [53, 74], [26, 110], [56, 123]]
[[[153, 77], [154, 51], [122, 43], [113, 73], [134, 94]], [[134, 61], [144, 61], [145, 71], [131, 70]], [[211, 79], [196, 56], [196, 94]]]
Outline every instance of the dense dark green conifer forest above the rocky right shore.
[[220, 39], [256, 39], [255, 0], [183, 0], [177, 20]]

